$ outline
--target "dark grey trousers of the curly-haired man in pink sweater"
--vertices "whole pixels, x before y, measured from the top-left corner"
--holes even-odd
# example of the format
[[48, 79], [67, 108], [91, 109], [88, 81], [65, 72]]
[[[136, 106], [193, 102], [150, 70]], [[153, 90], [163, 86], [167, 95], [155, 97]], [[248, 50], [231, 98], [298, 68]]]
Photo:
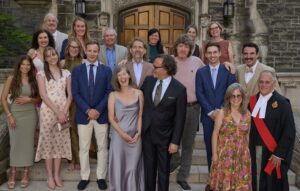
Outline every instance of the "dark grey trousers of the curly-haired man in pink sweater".
[[199, 112], [200, 106], [198, 104], [186, 108], [186, 120], [181, 137], [181, 157], [177, 152], [171, 158], [171, 166], [180, 164], [177, 174], [178, 181], [186, 181], [190, 175], [195, 136], [199, 127]]

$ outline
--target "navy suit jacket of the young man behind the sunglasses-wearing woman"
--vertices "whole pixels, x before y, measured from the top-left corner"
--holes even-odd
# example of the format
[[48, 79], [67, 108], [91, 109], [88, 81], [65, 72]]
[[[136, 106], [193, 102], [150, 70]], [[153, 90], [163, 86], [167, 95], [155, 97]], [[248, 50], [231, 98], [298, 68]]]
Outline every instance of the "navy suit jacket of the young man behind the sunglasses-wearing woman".
[[207, 114], [223, 106], [227, 87], [234, 82], [236, 82], [235, 75], [231, 74], [223, 64], [219, 66], [216, 88], [213, 86], [209, 65], [198, 69], [196, 73], [196, 96], [201, 106], [202, 123], [212, 122]]

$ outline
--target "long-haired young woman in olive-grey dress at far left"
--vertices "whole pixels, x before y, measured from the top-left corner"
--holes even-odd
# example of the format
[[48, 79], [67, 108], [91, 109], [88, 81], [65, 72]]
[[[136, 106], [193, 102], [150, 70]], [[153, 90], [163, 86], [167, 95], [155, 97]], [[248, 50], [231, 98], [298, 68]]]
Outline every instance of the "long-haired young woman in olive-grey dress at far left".
[[[10, 106], [8, 98], [12, 102]], [[7, 182], [8, 189], [15, 188], [16, 167], [24, 167], [21, 188], [29, 185], [29, 167], [34, 161], [34, 132], [38, 121], [35, 103], [39, 100], [32, 59], [22, 56], [13, 75], [9, 76], [4, 84], [1, 96], [10, 138], [11, 170]]]

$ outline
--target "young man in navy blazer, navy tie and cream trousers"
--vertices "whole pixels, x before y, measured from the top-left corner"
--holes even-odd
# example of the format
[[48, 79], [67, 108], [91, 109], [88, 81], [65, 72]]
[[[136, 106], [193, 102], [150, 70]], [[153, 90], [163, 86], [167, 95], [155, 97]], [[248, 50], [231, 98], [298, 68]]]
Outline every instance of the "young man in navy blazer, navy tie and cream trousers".
[[107, 101], [111, 92], [112, 73], [97, 58], [99, 44], [91, 40], [86, 45], [87, 59], [72, 71], [72, 95], [76, 104], [75, 121], [78, 124], [81, 180], [78, 190], [89, 183], [89, 148], [94, 131], [97, 140], [97, 183], [101, 190], [107, 188]]

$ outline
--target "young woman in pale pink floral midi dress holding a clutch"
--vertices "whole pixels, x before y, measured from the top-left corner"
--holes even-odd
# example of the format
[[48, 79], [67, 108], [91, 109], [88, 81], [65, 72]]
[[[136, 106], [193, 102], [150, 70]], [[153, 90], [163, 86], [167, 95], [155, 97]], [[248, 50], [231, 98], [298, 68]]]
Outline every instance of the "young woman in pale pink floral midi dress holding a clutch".
[[37, 73], [39, 92], [43, 100], [40, 109], [40, 136], [35, 161], [45, 159], [50, 189], [63, 187], [60, 179], [61, 159], [71, 160], [69, 129], [58, 130], [58, 124], [68, 121], [72, 102], [71, 74], [62, 70], [58, 53], [52, 47], [44, 51], [44, 71]]

